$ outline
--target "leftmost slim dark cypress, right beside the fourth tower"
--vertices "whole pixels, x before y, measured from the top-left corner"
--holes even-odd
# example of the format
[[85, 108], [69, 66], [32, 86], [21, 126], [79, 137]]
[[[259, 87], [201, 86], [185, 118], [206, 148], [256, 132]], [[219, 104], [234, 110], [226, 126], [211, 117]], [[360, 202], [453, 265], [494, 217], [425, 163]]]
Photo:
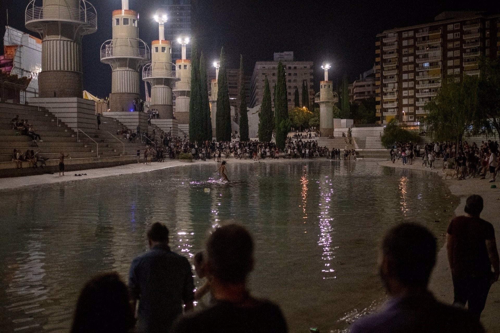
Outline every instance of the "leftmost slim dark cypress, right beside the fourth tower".
[[201, 96], [199, 84], [199, 63], [196, 40], [191, 43], [191, 97], [189, 99], [189, 139], [200, 140]]

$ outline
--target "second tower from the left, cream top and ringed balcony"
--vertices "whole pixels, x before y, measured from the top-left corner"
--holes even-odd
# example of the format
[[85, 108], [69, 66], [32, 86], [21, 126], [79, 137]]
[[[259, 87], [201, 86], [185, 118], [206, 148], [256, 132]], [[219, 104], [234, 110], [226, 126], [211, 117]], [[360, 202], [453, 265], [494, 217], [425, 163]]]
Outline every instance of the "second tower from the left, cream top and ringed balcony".
[[121, 9], [112, 14], [113, 39], [100, 47], [100, 61], [112, 70], [112, 112], [133, 111], [133, 100], [139, 97], [139, 68], [149, 61], [149, 47], [139, 39], [138, 20], [138, 13], [128, 9], [128, 0], [121, 0]]

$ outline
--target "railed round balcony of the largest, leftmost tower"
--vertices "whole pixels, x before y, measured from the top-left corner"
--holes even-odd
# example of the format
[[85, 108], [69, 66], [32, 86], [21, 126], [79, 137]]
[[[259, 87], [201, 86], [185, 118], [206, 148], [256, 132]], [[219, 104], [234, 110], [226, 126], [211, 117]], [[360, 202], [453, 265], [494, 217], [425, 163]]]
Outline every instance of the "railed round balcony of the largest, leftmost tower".
[[97, 31], [97, 11], [86, 0], [80, 0], [78, 8], [60, 4], [43, 6], [43, 0], [31, 0], [24, 11], [24, 22], [28, 29], [39, 33], [47, 23], [69, 23], [77, 26], [83, 35]]

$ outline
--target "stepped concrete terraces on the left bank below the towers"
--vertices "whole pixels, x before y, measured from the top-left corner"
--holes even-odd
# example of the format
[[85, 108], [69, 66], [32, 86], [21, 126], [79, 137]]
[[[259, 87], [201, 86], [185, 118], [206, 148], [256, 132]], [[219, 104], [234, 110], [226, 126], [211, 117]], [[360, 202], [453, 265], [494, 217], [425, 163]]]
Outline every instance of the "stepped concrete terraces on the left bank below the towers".
[[[16, 115], [19, 119], [27, 119], [32, 124], [35, 132], [40, 134], [42, 142], [33, 142], [26, 135], [18, 135], [17, 130], [11, 129], [10, 120]], [[58, 125], [57, 125], [58, 122]], [[136, 150], [144, 150], [145, 144], [137, 140], [129, 143], [122, 135], [116, 135], [123, 124], [115, 119], [102, 117], [100, 129], [87, 126], [85, 133], [76, 132], [64, 122], [48, 112], [45, 108], [21, 104], [0, 103], [0, 177], [38, 174], [58, 171], [58, 158], [61, 151], [69, 154], [65, 159], [67, 171], [81, 170], [95, 167], [120, 165], [136, 161]], [[98, 154], [96, 143], [98, 144]], [[16, 164], [11, 161], [13, 149], [22, 152], [40, 149], [40, 156], [48, 158], [46, 168], [28, 168], [28, 163], [23, 162], [23, 169], [16, 169]]]

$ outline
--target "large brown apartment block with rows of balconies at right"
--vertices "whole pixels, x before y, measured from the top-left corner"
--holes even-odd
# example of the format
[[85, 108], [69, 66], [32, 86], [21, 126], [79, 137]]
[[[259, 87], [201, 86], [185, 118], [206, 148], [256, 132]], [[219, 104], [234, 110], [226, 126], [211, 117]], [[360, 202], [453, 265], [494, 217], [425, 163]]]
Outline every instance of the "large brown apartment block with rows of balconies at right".
[[379, 122], [418, 125], [424, 105], [452, 75], [478, 75], [478, 57], [500, 56], [500, 14], [443, 12], [431, 23], [376, 35]]

